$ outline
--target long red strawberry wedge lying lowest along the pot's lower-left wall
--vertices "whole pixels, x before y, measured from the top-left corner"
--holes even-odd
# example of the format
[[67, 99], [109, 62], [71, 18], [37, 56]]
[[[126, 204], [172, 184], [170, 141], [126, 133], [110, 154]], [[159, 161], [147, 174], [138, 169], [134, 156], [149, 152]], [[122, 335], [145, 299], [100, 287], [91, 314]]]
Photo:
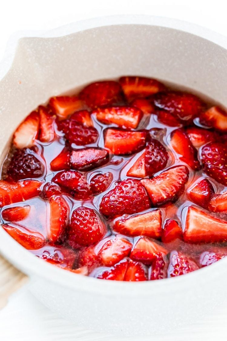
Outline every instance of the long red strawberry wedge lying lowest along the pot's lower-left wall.
[[28, 250], [42, 248], [46, 243], [46, 240], [41, 233], [30, 231], [23, 226], [3, 224], [2, 227], [11, 237]]

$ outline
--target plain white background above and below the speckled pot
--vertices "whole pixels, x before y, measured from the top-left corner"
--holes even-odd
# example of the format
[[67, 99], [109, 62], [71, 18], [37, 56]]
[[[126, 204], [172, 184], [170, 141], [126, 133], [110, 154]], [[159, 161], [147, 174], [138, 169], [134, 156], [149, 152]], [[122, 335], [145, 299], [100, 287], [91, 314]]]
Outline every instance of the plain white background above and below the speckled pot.
[[[190, 21], [227, 36], [225, 3], [225, 0], [4, 0], [0, 6], [0, 59], [3, 58], [7, 41], [16, 31], [49, 30], [73, 21], [103, 15], [150, 14], [171, 17]], [[210, 315], [193, 326], [172, 331], [168, 335], [151, 336], [146, 340], [226, 340], [226, 321], [227, 307], [222, 307], [218, 314]], [[26, 287], [14, 294], [8, 306], [0, 311], [1, 341], [75, 339], [123, 340], [93, 334], [79, 329], [76, 324], [63, 321], [37, 302]]]

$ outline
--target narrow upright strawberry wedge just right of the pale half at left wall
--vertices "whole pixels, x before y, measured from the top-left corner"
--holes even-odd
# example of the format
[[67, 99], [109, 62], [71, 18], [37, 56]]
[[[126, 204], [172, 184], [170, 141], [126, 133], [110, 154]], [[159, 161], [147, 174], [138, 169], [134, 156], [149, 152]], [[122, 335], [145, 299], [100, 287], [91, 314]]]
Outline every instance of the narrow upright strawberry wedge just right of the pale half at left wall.
[[40, 119], [39, 140], [51, 142], [54, 138], [54, 117], [42, 105], [38, 107], [38, 112]]

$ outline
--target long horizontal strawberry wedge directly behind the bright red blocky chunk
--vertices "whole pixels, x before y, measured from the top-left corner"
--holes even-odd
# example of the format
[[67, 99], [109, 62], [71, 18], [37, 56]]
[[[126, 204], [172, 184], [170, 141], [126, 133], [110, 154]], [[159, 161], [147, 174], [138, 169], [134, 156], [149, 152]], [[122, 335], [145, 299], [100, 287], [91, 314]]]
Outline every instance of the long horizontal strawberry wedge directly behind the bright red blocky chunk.
[[137, 128], [143, 116], [139, 108], [130, 106], [97, 108], [92, 114], [95, 114], [100, 122], [115, 123], [120, 128]]

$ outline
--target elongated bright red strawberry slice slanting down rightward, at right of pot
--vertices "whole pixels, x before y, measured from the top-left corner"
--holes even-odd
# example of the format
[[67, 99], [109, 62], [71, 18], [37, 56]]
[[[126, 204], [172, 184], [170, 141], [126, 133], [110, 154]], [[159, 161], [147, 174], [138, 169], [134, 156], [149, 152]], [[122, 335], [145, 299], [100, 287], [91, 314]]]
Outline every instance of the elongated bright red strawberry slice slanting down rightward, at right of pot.
[[193, 147], [188, 135], [182, 129], [177, 129], [172, 132], [171, 145], [178, 154], [182, 155], [179, 157], [181, 161], [187, 163], [193, 170], [200, 168], [197, 156], [198, 152]]

